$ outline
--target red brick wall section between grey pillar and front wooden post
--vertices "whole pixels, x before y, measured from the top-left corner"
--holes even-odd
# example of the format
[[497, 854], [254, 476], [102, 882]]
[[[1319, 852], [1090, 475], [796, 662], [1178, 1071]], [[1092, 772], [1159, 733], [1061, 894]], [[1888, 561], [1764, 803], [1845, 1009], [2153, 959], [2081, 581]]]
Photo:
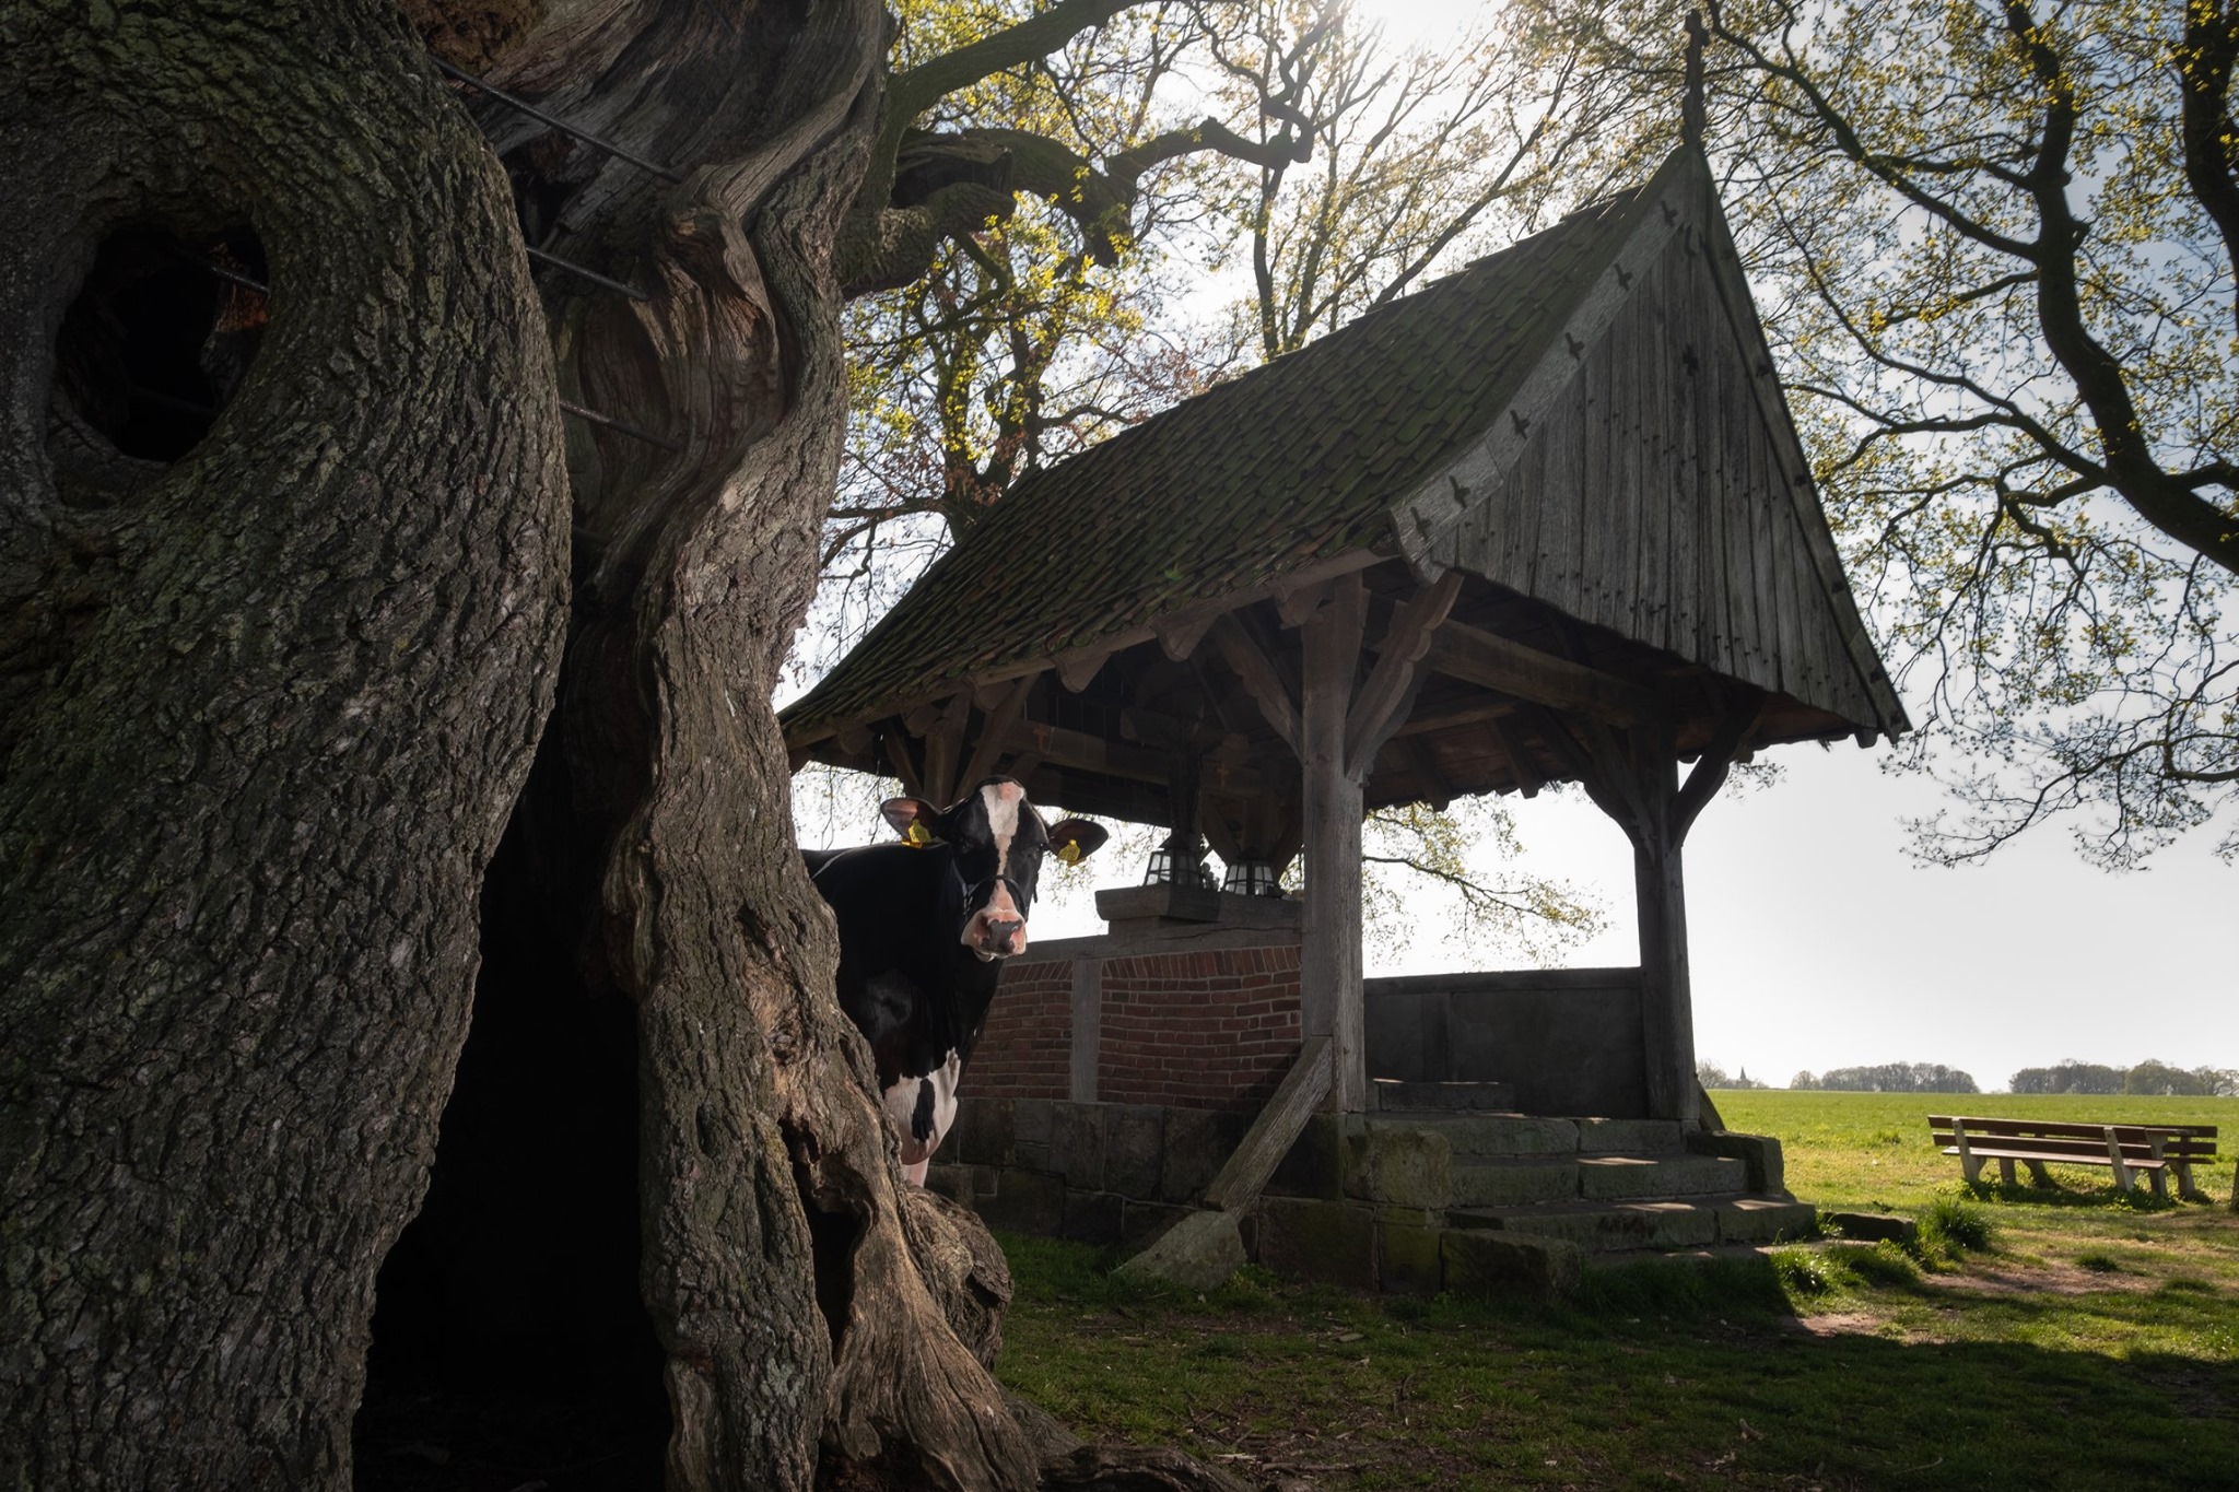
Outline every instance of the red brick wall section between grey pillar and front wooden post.
[[1258, 1109], [1294, 1056], [1296, 944], [1104, 960], [1104, 1103]]

